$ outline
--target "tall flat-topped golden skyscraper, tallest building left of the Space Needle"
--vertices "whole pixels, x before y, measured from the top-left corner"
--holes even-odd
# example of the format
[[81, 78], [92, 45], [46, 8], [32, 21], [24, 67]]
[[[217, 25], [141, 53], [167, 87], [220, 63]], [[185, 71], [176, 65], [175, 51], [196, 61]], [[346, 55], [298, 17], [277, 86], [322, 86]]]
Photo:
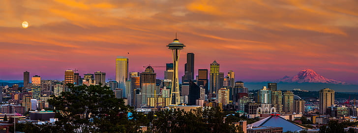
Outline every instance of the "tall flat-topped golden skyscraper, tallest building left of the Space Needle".
[[124, 56], [116, 58], [116, 81], [121, 89], [125, 89], [125, 81], [128, 80], [128, 60]]

